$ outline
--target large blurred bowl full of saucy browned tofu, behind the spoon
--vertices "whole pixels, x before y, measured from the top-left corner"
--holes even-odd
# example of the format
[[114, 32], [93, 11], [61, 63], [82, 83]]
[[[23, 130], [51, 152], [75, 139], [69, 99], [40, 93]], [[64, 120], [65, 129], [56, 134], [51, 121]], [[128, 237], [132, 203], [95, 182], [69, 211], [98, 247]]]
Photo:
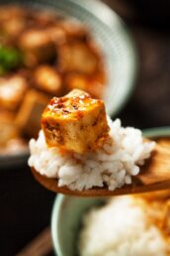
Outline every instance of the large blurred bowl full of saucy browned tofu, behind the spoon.
[[0, 166], [26, 162], [51, 96], [74, 88], [116, 114], [135, 76], [135, 51], [120, 18], [100, 2], [0, 4]]

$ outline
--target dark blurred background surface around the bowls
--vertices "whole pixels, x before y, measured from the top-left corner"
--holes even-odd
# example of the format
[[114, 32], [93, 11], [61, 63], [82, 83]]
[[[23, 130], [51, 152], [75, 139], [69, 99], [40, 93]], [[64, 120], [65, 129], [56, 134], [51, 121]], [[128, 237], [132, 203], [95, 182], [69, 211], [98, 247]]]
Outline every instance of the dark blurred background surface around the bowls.
[[[138, 51], [136, 86], [119, 117], [140, 129], [170, 125], [170, 1], [104, 2], [126, 21]], [[27, 166], [0, 171], [0, 255], [10, 256], [50, 224], [55, 194], [35, 182]]]

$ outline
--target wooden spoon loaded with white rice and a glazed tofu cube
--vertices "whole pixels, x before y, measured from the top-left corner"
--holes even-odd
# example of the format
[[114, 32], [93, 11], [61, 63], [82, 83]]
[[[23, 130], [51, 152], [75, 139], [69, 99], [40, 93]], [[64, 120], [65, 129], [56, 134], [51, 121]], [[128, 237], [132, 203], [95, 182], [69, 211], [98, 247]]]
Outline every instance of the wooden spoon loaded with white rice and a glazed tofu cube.
[[104, 102], [74, 89], [54, 97], [30, 141], [29, 166], [47, 190], [109, 196], [170, 188], [170, 140], [156, 142], [106, 116]]

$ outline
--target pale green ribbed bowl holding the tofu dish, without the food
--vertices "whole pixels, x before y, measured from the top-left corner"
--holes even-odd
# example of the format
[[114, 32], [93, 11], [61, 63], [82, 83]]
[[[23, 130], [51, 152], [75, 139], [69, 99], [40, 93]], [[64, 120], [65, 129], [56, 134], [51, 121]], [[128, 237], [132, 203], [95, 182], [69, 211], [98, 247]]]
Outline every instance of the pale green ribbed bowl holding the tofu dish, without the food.
[[[136, 75], [136, 53], [131, 36], [122, 19], [100, 1], [91, 0], [7, 0], [0, 4], [19, 4], [74, 18], [90, 29], [101, 48], [107, 70], [108, 84], [104, 94], [106, 109], [115, 116], [124, 107], [132, 92]], [[26, 163], [29, 151], [21, 155], [0, 156], [0, 168]]]

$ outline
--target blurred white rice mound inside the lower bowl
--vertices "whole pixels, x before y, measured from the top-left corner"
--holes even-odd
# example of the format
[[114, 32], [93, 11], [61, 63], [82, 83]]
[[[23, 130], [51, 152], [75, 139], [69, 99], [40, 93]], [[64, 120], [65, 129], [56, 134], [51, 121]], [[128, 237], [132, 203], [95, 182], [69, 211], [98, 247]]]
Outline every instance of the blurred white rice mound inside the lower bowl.
[[80, 256], [168, 256], [169, 245], [132, 196], [116, 196], [84, 215]]

